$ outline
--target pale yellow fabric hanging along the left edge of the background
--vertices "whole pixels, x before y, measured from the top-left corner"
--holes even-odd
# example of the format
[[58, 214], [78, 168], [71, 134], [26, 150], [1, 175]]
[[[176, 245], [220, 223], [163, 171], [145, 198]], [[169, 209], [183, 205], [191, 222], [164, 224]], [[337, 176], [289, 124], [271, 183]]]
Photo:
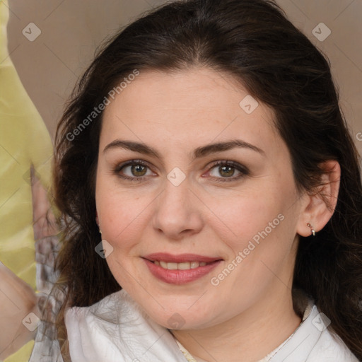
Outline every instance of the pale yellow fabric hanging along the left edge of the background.
[[[8, 16], [8, 1], [0, 0], [0, 260], [36, 290], [30, 167], [49, 189], [52, 141], [8, 55]], [[32, 347], [5, 361], [28, 361]]]

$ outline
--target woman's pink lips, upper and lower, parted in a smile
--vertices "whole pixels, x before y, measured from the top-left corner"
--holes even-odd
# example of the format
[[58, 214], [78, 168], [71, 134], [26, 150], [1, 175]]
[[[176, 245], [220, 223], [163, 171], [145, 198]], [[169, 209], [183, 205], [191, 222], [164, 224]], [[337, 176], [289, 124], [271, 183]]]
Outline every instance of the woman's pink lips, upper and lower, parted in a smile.
[[[209, 274], [219, 263], [221, 263], [221, 257], [206, 257], [203, 255], [195, 254], [180, 254], [171, 255], [164, 252], [154, 253], [146, 255], [144, 258], [146, 265], [151, 271], [151, 274], [157, 279], [164, 281], [168, 284], [187, 284], [191, 281], [197, 280]], [[182, 262], [206, 262], [206, 265], [199, 266], [194, 269], [164, 269], [160, 265], [156, 265], [155, 261], [170, 262], [170, 263], [182, 263]]]

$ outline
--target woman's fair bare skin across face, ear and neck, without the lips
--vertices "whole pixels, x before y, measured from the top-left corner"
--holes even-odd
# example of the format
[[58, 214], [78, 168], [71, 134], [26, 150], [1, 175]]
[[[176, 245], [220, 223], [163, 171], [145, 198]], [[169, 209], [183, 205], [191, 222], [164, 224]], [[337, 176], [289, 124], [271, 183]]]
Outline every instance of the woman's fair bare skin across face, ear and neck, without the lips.
[[[298, 235], [310, 235], [307, 223], [323, 228], [337, 202], [339, 164], [324, 165], [325, 199], [299, 193], [274, 112], [259, 102], [247, 114], [239, 105], [247, 94], [227, 74], [203, 67], [141, 71], [107, 106], [100, 134], [95, 197], [102, 237], [114, 248], [110, 270], [158, 324], [170, 328], [178, 313], [173, 334], [204, 361], [258, 361], [293, 333], [300, 324], [291, 298]], [[236, 139], [247, 146], [193, 158], [196, 148]], [[134, 167], [123, 167], [129, 160]], [[227, 160], [235, 164], [214, 165]], [[186, 176], [178, 186], [167, 177], [174, 168]], [[284, 220], [211, 284], [279, 214]], [[154, 252], [223, 261], [201, 279], [175, 285], [148, 271], [143, 257]]]

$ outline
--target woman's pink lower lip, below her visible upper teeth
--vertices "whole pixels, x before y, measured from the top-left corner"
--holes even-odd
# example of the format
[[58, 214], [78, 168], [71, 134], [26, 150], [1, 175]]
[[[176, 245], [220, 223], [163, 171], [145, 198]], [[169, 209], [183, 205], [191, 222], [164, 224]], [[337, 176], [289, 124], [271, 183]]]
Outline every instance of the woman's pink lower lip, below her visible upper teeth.
[[211, 262], [210, 264], [204, 265], [204, 267], [197, 267], [194, 269], [187, 269], [187, 270], [170, 270], [164, 269], [159, 265], [150, 262], [148, 259], [144, 259], [148, 269], [151, 271], [153, 276], [156, 276], [157, 279], [164, 281], [168, 284], [176, 284], [182, 285], [187, 284], [197, 279], [202, 278], [206, 274], [218, 266], [222, 262], [222, 260], [217, 260], [216, 262]]

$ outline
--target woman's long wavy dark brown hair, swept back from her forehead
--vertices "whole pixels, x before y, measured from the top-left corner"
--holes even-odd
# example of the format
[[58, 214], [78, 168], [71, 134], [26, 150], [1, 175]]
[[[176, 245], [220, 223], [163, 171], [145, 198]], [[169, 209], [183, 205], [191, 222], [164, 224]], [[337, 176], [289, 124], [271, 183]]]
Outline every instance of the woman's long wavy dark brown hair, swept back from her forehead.
[[[95, 170], [102, 112], [76, 129], [134, 69], [206, 66], [230, 74], [275, 112], [300, 190], [313, 192], [337, 160], [337, 207], [317, 235], [300, 237], [293, 286], [313, 297], [330, 327], [362, 358], [362, 189], [358, 153], [339, 109], [329, 62], [270, 0], [188, 0], [156, 8], [124, 28], [78, 82], [56, 137], [54, 196], [62, 212], [59, 288], [69, 306], [91, 305], [120, 289], [95, 223]], [[65, 306], [65, 303], [64, 303]], [[63, 312], [63, 311], [62, 311]], [[59, 315], [62, 325], [62, 313]], [[64, 325], [63, 325], [64, 327]], [[59, 339], [62, 331], [59, 327]]]

